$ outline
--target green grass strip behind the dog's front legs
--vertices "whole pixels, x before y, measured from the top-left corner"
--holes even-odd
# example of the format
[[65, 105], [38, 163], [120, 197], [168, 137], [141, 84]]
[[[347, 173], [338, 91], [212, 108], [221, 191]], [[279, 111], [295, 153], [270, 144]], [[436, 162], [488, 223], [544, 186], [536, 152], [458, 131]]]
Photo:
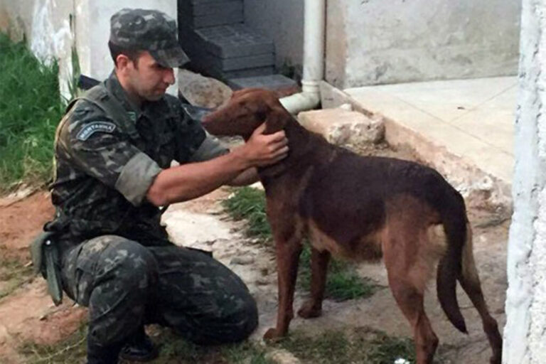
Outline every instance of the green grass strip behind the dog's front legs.
[[[237, 188], [230, 198], [223, 201], [223, 206], [235, 220], [247, 221], [245, 232], [248, 236], [271, 240], [263, 191], [250, 187]], [[305, 244], [299, 260], [298, 284], [308, 291], [311, 286], [310, 259], [311, 249], [309, 244]], [[326, 282], [328, 298], [343, 301], [369, 297], [374, 292], [375, 285], [369, 279], [358, 276], [352, 264], [331, 259]]]

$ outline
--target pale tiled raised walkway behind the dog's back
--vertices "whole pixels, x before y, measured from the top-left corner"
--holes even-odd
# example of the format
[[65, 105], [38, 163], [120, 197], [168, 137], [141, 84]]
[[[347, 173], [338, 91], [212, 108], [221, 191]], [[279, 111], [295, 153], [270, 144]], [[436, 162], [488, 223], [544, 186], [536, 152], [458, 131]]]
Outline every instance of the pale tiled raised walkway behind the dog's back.
[[[517, 90], [517, 77], [490, 77], [343, 91], [363, 109], [382, 114], [510, 185]], [[387, 127], [387, 140], [389, 132]]]

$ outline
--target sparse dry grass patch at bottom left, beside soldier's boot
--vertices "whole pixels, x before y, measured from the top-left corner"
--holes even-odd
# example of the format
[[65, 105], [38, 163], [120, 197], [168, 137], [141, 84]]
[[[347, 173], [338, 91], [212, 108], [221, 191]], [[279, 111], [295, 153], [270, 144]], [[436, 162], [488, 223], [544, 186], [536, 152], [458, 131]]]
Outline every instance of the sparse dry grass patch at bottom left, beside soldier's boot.
[[18, 348], [27, 364], [74, 364], [85, 362], [87, 357], [87, 323], [82, 323], [66, 340], [54, 345], [23, 343]]

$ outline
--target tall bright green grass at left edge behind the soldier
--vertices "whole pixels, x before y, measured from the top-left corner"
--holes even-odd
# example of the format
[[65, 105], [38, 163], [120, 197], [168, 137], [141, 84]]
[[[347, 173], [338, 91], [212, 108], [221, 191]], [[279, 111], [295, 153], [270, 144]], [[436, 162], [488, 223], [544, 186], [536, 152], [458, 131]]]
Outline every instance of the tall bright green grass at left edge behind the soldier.
[[45, 65], [0, 33], [0, 193], [52, 175], [55, 127], [64, 112], [58, 65]]

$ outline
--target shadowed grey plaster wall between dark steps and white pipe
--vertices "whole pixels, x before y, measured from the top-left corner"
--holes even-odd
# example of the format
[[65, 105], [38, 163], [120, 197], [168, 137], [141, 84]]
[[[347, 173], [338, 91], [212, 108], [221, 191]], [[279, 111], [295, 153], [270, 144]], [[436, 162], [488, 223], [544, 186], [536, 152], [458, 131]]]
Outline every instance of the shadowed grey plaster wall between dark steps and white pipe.
[[302, 64], [304, 0], [245, 0], [245, 23], [273, 39], [277, 67]]

